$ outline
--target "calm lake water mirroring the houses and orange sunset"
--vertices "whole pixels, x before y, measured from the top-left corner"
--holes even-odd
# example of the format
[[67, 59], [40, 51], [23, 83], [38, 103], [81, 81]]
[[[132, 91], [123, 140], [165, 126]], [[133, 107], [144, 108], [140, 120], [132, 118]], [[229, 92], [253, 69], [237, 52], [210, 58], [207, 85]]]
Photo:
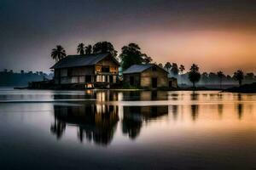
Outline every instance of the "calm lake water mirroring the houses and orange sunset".
[[1, 169], [255, 169], [256, 94], [0, 89]]

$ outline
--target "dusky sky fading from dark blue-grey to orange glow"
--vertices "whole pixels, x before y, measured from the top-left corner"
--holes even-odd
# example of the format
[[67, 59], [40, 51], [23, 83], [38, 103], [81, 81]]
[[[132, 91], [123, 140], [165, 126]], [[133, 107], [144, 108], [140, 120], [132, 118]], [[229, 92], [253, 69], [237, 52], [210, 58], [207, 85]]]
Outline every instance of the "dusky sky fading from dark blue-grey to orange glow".
[[136, 42], [157, 63], [256, 72], [255, 0], [0, 0], [0, 70], [46, 71], [79, 42]]

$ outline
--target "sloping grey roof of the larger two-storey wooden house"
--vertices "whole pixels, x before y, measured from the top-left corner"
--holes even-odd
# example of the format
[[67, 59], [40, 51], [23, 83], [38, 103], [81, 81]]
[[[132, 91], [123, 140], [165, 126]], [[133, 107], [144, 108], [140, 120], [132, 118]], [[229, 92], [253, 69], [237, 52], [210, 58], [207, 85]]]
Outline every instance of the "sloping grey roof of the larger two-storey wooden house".
[[[102, 59], [108, 57], [109, 53], [103, 54], [86, 54], [86, 55], [67, 55], [64, 59], [59, 60], [50, 69], [61, 69], [70, 67], [79, 67], [85, 65], [96, 65]], [[119, 65], [119, 62], [113, 57], [115, 63]]]

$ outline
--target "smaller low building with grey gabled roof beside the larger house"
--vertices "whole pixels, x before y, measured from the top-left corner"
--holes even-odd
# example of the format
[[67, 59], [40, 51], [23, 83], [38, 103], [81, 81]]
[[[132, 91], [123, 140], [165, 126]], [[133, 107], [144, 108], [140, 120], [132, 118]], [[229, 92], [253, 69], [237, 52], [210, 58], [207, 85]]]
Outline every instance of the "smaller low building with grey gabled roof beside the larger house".
[[124, 83], [139, 88], [168, 88], [168, 71], [158, 65], [131, 65], [123, 72]]

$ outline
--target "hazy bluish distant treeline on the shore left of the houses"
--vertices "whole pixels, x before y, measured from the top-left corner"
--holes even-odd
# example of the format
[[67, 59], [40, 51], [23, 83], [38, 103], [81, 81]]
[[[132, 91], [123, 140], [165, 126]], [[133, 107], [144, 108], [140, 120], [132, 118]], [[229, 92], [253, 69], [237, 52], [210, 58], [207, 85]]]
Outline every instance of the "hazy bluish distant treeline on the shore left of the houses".
[[0, 87], [26, 87], [28, 82], [37, 82], [52, 79], [53, 74], [46, 74], [43, 71], [20, 71], [4, 69], [0, 71]]

